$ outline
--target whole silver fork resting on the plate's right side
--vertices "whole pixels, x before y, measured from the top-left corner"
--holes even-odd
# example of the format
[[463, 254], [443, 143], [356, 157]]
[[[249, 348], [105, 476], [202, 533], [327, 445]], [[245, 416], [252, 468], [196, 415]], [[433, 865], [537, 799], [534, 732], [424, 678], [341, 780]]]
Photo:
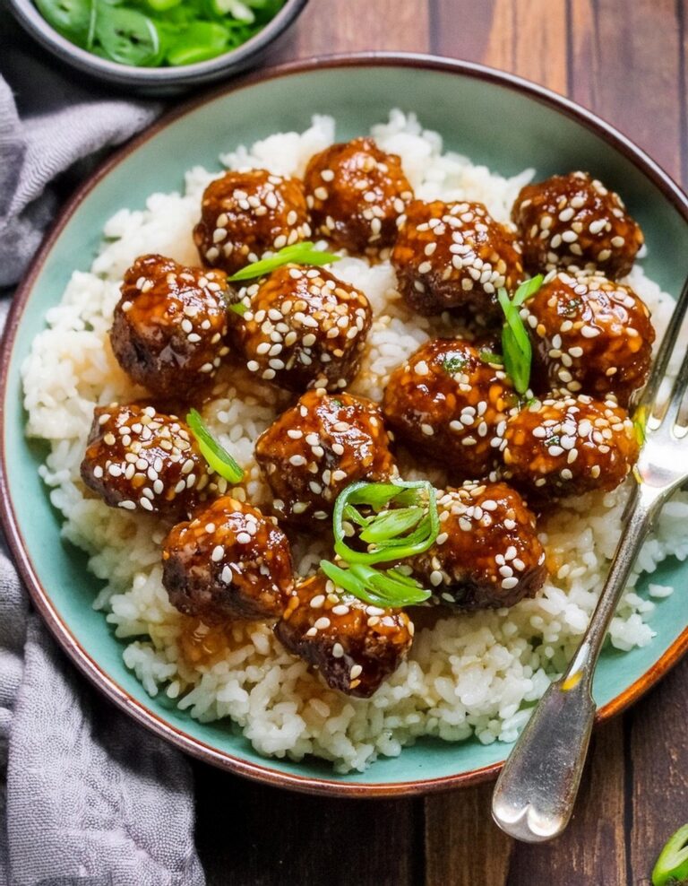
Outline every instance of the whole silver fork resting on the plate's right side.
[[641, 543], [667, 498], [688, 480], [688, 437], [677, 430], [688, 387], [688, 353], [663, 408], [658, 393], [688, 308], [688, 281], [676, 303], [635, 415], [645, 418], [645, 442], [633, 470], [635, 485], [624, 513], [624, 534], [588, 630], [566, 673], [553, 682], [526, 725], [497, 780], [492, 814], [520, 840], [555, 838], [571, 818], [595, 718], [592, 677], [606, 631]]

